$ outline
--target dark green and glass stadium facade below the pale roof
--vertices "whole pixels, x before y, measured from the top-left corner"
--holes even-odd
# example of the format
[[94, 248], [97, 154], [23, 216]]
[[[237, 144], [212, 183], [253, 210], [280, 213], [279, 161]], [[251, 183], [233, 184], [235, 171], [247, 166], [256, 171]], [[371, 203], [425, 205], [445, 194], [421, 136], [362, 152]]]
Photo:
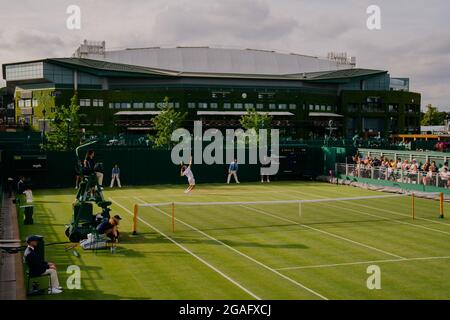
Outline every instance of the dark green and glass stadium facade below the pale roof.
[[[197, 112], [245, 112], [253, 107], [262, 112], [290, 113], [274, 116], [273, 127], [281, 130], [282, 137], [292, 139], [323, 138], [329, 134], [330, 120], [332, 134], [337, 137], [420, 130], [420, 94], [390, 91], [389, 74], [380, 70], [348, 69], [284, 77], [177, 75], [87, 59], [47, 59], [38, 68], [45, 81], [8, 81], [9, 90], [16, 93], [16, 121], [26, 122], [34, 130], [42, 130], [44, 109], [45, 117], [51, 118], [54, 108], [68, 105], [75, 92], [87, 133], [117, 134], [136, 126], [144, 129], [140, 133], [148, 132], [151, 116], [130, 113], [158, 111], [158, 103], [165, 97], [175, 108], [188, 112], [187, 128], [194, 120], [202, 120], [204, 127], [238, 127], [239, 116], [200, 116]], [[24, 108], [23, 92], [27, 99], [37, 101], [37, 106]], [[82, 101], [88, 101], [89, 106]], [[94, 106], [99, 101], [101, 106]], [[120, 111], [127, 115], [117, 115]]]

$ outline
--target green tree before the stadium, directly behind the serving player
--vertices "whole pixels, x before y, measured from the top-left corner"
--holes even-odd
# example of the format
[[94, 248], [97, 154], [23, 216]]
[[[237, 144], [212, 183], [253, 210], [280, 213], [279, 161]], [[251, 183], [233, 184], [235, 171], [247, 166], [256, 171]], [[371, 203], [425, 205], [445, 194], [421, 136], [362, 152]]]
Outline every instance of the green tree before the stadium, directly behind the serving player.
[[173, 144], [171, 140], [172, 132], [181, 127], [186, 118], [186, 112], [175, 111], [169, 105], [168, 97], [164, 98], [164, 103], [160, 110], [161, 113], [152, 119], [153, 129], [156, 132], [155, 135], [149, 136], [149, 139], [157, 147], [170, 147]]

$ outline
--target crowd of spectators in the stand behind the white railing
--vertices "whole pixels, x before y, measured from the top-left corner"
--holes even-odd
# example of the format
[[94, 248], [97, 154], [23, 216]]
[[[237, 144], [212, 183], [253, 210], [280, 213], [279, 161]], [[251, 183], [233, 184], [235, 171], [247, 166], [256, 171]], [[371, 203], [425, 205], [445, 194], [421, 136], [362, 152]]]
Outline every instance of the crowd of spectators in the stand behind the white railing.
[[353, 157], [352, 175], [363, 178], [384, 179], [423, 185], [450, 186], [448, 162], [437, 166], [435, 161], [426, 160], [419, 163], [416, 159], [388, 159], [385, 156]]

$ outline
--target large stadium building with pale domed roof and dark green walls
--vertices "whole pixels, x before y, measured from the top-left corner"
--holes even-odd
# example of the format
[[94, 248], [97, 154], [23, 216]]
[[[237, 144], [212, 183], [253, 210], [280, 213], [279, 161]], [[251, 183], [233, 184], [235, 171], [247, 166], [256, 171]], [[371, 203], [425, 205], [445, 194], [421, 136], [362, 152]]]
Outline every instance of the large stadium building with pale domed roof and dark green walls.
[[[93, 133], [145, 133], [165, 97], [187, 111], [186, 127], [233, 128], [248, 108], [268, 112], [283, 137], [387, 136], [420, 132], [420, 94], [409, 79], [356, 68], [354, 58], [318, 58], [209, 47], [107, 51], [85, 41], [72, 57], [2, 66], [12, 97], [5, 123], [48, 130], [75, 92], [82, 126]], [[5, 104], [6, 105], [6, 104]], [[330, 122], [332, 120], [333, 122]]]

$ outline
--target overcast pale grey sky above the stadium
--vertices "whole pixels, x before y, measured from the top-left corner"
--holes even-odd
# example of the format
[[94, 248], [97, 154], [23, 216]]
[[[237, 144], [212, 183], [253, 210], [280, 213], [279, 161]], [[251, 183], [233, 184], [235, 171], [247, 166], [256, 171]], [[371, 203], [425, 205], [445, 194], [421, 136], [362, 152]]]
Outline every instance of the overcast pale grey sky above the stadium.
[[[366, 27], [371, 4], [381, 8], [381, 30]], [[66, 27], [69, 5], [81, 8], [80, 30]], [[70, 56], [83, 39], [105, 40], [107, 49], [345, 51], [358, 67], [409, 77], [422, 106], [450, 110], [447, 0], [0, 0], [0, 8], [0, 64]]]

